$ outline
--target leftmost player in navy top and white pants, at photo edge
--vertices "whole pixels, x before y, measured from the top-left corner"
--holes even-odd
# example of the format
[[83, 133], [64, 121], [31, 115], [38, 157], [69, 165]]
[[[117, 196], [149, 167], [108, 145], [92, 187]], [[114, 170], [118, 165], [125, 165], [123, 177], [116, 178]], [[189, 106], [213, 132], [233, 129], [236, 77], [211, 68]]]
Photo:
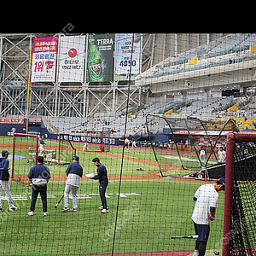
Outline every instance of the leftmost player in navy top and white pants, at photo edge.
[[[9, 160], [8, 160], [9, 152], [7, 150], [3, 150], [2, 159], [0, 161], [0, 198], [2, 195], [2, 188], [5, 192], [5, 195], [9, 204], [9, 211], [15, 211], [18, 208], [14, 206], [14, 201], [12, 198], [12, 194], [9, 187]], [[2, 202], [0, 199], [0, 212], [3, 211]]]

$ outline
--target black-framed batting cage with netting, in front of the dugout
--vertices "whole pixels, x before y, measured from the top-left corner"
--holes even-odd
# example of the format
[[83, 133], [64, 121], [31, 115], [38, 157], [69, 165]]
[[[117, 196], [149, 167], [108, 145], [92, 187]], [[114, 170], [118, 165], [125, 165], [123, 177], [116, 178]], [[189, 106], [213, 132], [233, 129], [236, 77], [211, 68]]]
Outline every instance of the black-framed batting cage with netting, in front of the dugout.
[[[224, 177], [225, 161], [220, 158], [219, 152], [221, 150], [226, 154], [225, 138], [236, 131], [236, 123], [228, 119], [218, 132], [212, 132], [212, 125], [214, 122], [197, 118], [148, 114], [148, 146], [153, 149], [161, 175], [206, 179]], [[160, 142], [156, 136], [162, 127], [165, 142]]]

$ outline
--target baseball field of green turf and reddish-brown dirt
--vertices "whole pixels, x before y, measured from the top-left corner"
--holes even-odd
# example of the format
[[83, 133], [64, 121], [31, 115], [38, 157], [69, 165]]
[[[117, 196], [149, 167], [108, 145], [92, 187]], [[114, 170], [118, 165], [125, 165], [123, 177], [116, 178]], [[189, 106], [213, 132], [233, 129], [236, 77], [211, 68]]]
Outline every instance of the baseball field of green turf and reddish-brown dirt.
[[[15, 155], [25, 158], [15, 160], [15, 177], [27, 182], [26, 175], [34, 165], [28, 148], [31, 138], [17, 138]], [[46, 141], [47, 148], [56, 142]], [[79, 188], [78, 212], [61, 212], [67, 166], [47, 165], [51, 173], [48, 183], [48, 212], [43, 216], [42, 202], [37, 201], [34, 216], [28, 216], [31, 187], [10, 182], [15, 212], [8, 211], [2, 192], [3, 212], [0, 212], [1, 255], [87, 255], [111, 253], [166, 253], [189, 255], [194, 251], [195, 239], [171, 239], [171, 236], [195, 235], [191, 220], [196, 189], [204, 183], [183, 178], [191, 171], [180, 167], [177, 153], [157, 152], [160, 167], [173, 178], [160, 177], [159, 166], [150, 148], [111, 148], [111, 152], [83, 151], [83, 144], [76, 144], [79, 162], [84, 175], [96, 173], [92, 159], [99, 157], [107, 166], [109, 184], [108, 214], [102, 214], [97, 181], [83, 177]], [[12, 152], [12, 137], [0, 137], [0, 150]], [[65, 155], [65, 152], [61, 154]], [[66, 154], [66, 156], [69, 153]], [[188, 165], [198, 167], [195, 154], [183, 154]], [[27, 162], [27, 160], [30, 160]], [[192, 163], [192, 164], [191, 164]], [[123, 166], [122, 166], [123, 165]], [[10, 160], [12, 168], [12, 160]], [[142, 171], [137, 171], [142, 169]], [[122, 175], [120, 177], [120, 171]], [[70, 199], [72, 205], [72, 199]], [[216, 220], [211, 223], [207, 255], [221, 251], [223, 236], [224, 192], [219, 193]], [[149, 255], [149, 254], [148, 254]], [[192, 254], [191, 254], [192, 255]]]

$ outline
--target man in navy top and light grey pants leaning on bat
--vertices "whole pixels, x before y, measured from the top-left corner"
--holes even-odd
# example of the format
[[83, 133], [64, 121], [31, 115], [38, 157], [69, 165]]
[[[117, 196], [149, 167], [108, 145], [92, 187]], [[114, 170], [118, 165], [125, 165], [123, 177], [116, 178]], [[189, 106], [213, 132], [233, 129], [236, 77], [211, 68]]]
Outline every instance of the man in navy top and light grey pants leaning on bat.
[[72, 190], [73, 195], [73, 207], [70, 209], [73, 212], [77, 212], [78, 210], [78, 196], [77, 192], [80, 187], [80, 177], [83, 176], [83, 167], [79, 164], [79, 156], [74, 155], [72, 159], [72, 163], [67, 166], [67, 181], [66, 187], [64, 191], [64, 208], [62, 212], [69, 210], [68, 207], [68, 199], [69, 192]]

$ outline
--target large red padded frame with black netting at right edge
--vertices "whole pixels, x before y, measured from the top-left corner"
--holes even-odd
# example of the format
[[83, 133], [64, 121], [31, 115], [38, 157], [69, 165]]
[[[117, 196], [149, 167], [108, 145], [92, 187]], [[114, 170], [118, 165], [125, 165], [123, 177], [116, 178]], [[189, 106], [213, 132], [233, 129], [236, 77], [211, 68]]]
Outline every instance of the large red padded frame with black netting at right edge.
[[256, 255], [256, 134], [233, 132], [226, 148], [223, 256]]

